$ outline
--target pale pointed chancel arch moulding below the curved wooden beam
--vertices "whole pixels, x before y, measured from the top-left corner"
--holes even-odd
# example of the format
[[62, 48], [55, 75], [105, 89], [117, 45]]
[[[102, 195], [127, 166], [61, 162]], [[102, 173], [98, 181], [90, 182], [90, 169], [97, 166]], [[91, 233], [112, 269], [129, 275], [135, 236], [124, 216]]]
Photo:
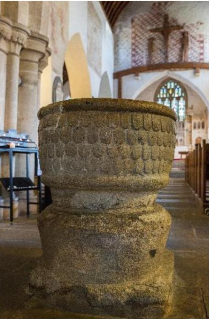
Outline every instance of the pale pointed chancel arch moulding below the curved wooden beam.
[[206, 107], [209, 110], [209, 100], [206, 98], [205, 94], [196, 86], [194, 85], [191, 81], [189, 81], [187, 78], [176, 74], [173, 71], [163, 71], [160, 72], [159, 75], [153, 77], [150, 81], [147, 81], [143, 86], [141, 86], [131, 97], [131, 99], [135, 100], [137, 98], [137, 96], [139, 94], [141, 94], [146, 88], [148, 88], [150, 85], [152, 85], [153, 83], [155, 83], [156, 81], [162, 79], [165, 80], [166, 78], [173, 78], [179, 82], [182, 82], [184, 84], [186, 84], [187, 86], [189, 86], [191, 89], [193, 89], [200, 97], [201, 99], [204, 101]]

